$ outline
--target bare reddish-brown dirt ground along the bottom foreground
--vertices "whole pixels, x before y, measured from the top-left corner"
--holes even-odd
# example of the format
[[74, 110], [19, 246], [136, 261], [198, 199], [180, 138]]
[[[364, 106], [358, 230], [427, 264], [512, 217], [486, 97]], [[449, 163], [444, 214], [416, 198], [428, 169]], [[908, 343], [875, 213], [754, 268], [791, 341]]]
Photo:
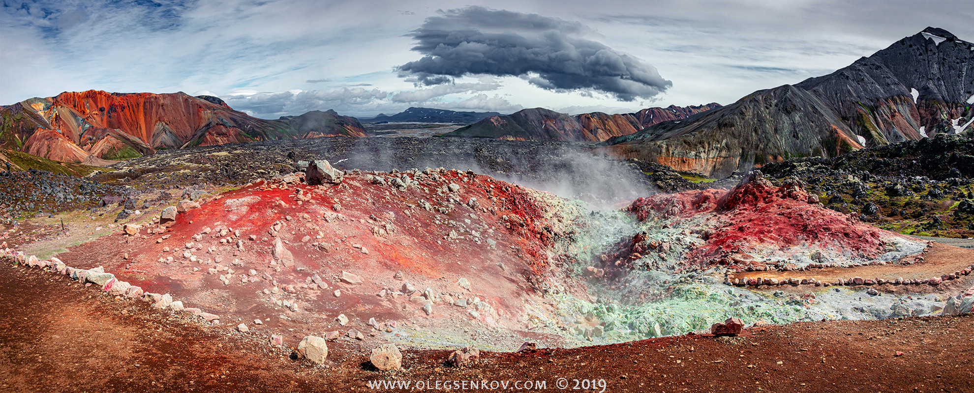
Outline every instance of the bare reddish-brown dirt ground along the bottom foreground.
[[277, 348], [264, 332], [203, 326], [38, 269], [0, 267], [0, 390], [9, 392], [417, 391], [369, 388], [379, 380], [543, 380], [527, 391], [575, 391], [575, 379], [604, 380], [605, 392], [969, 392], [972, 330], [972, 314], [803, 322], [732, 338], [482, 352], [462, 369], [444, 365], [448, 350], [406, 349], [402, 369], [376, 372], [347, 339], [328, 343], [322, 368], [288, 359], [296, 340]]

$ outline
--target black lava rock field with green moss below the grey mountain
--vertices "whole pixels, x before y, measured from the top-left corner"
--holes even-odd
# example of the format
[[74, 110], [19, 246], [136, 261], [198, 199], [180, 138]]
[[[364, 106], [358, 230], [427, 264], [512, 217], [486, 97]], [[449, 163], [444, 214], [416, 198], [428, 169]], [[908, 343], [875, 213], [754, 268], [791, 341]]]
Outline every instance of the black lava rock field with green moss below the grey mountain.
[[[830, 208], [861, 213], [886, 230], [974, 236], [970, 227], [974, 217], [967, 213], [974, 203], [965, 202], [974, 193], [970, 180], [974, 177], [972, 139], [940, 134], [834, 159], [771, 162], [761, 169], [778, 182], [797, 178], [822, 200], [828, 199]], [[844, 200], [851, 202], [846, 205]], [[889, 214], [871, 215], [872, 205]]]

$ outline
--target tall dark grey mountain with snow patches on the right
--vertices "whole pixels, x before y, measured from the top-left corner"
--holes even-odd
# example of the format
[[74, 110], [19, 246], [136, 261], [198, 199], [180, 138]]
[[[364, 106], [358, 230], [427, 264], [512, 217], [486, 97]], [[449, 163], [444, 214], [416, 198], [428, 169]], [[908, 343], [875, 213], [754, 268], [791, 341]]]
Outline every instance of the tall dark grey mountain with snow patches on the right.
[[832, 74], [614, 137], [597, 151], [723, 177], [770, 161], [969, 134], [972, 103], [974, 47], [927, 27]]

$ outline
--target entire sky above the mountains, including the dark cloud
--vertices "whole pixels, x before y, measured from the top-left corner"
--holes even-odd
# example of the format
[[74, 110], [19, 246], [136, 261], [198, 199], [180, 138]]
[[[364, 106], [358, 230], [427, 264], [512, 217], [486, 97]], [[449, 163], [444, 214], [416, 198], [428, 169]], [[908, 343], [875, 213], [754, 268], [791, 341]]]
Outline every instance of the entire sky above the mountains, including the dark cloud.
[[265, 119], [730, 104], [926, 26], [974, 41], [969, 0], [0, 1], [0, 105], [183, 91]]

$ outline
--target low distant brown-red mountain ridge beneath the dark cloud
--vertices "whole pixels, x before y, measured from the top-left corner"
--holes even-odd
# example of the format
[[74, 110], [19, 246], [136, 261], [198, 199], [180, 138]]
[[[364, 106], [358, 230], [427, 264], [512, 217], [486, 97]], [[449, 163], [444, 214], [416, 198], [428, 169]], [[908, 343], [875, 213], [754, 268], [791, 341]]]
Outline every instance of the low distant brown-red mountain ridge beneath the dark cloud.
[[564, 140], [601, 142], [628, 135], [644, 127], [719, 108], [718, 103], [667, 108], [647, 108], [636, 113], [609, 115], [602, 112], [569, 116], [550, 109], [532, 108], [507, 115], [491, 116], [459, 128], [445, 136], [496, 138], [509, 140]]

